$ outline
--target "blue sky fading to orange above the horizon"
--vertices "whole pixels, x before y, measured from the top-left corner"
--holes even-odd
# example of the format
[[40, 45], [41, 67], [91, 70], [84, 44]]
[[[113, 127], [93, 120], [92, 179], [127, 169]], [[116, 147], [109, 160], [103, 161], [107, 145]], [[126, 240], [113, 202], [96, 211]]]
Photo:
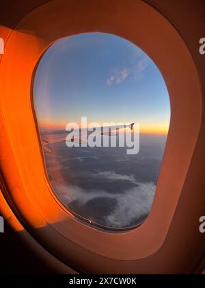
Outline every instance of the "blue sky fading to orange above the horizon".
[[143, 133], [166, 134], [170, 104], [163, 76], [133, 43], [104, 33], [58, 40], [46, 50], [34, 80], [40, 128], [68, 122], [137, 122]]

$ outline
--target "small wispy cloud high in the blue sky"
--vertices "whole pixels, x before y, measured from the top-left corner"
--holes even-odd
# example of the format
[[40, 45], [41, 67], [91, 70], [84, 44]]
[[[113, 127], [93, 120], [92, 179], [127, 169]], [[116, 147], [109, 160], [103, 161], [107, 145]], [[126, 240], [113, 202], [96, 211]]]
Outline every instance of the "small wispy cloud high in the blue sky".
[[128, 76], [132, 76], [134, 80], [140, 80], [143, 76], [143, 71], [146, 70], [150, 61], [148, 58], [141, 58], [141, 60], [137, 60], [130, 67], [123, 68], [115, 68], [111, 71], [109, 78], [107, 79], [107, 85], [111, 84], [120, 84], [122, 83]]

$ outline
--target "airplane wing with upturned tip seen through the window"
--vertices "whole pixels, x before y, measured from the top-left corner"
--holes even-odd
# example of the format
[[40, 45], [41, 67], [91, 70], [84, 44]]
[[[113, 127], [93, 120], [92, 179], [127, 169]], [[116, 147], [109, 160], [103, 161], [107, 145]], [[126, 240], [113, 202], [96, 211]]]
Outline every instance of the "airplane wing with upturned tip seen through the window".
[[[101, 135], [115, 135], [114, 131], [124, 129], [124, 128], [130, 128], [133, 130], [133, 125], [135, 123], [125, 124], [125, 125], [111, 125], [111, 126], [101, 126], [101, 127], [94, 127], [94, 128], [83, 128], [78, 130], [73, 130], [72, 134], [76, 133], [76, 135], [81, 136], [75, 136], [74, 139], [71, 139], [72, 142], [76, 143], [87, 143], [87, 139], [83, 137], [83, 135], [89, 136], [91, 133], [94, 134], [101, 134]], [[45, 153], [51, 153], [51, 149], [47, 147], [49, 143], [59, 143], [66, 141], [66, 136], [69, 134], [68, 131], [66, 132], [41, 132], [41, 141], [42, 141], [42, 147]]]

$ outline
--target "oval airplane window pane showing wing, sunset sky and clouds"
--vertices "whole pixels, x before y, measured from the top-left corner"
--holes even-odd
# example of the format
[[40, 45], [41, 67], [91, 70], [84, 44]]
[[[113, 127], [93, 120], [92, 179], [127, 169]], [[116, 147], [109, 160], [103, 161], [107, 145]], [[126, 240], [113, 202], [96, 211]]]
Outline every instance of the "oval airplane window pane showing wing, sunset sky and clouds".
[[170, 118], [165, 81], [148, 55], [111, 34], [62, 38], [38, 64], [33, 101], [46, 173], [68, 210], [105, 228], [141, 224]]

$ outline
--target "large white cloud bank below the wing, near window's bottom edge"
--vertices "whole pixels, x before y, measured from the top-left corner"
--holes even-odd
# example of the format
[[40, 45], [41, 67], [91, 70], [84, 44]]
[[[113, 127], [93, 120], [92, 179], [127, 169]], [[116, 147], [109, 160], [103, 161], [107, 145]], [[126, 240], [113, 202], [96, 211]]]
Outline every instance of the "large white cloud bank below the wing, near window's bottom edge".
[[[97, 174], [96, 174], [97, 175]], [[156, 186], [153, 182], [137, 182], [133, 176], [120, 175], [115, 172], [99, 172], [99, 177], [105, 180], [130, 180], [136, 186], [125, 189], [124, 193], [109, 193], [105, 190], [93, 189], [87, 191], [74, 185], [62, 185], [52, 182], [57, 195], [66, 204], [70, 205], [73, 201], [83, 206], [90, 200], [101, 197], [113, 198], [117, 204], [113, 206], [113, 211], [105, 215], [104, 224], [109, 227], [127, 227], [137, 223], [146, 217], [152, 206]]]

